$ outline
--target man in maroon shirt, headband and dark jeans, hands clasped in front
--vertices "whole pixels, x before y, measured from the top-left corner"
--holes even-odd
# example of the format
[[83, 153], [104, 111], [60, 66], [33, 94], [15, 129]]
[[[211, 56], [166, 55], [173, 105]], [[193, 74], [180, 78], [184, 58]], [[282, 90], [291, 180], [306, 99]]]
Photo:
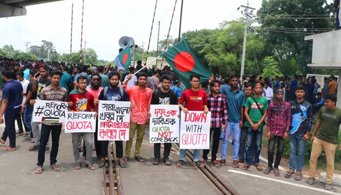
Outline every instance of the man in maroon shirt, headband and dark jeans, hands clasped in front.
[[[265, 174], [269, 174], [274, 169], [274, 176], [280, 176], [278, 169], [284, 149], [284, 139], [289, 137], [289, 129], [291, 126], [291, 108], [290, 104], [283, 100], [284, 89], [278, 88], [275, 91], [276, 101], [269, 104], [267, 110], [267, 138], [269, 139], [267, 160], [268, 166]], [[277, 154], [275, 165], [273, 164], [273, 156], [275, 143], [277, 140]]]

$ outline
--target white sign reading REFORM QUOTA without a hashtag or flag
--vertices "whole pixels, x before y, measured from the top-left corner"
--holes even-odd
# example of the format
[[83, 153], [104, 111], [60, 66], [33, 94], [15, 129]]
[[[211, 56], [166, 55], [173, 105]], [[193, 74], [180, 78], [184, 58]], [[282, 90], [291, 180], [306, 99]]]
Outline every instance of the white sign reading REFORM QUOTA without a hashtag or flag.
[[93, 133], [95, 130], [95, 112], [66, 113], [65, 133]]

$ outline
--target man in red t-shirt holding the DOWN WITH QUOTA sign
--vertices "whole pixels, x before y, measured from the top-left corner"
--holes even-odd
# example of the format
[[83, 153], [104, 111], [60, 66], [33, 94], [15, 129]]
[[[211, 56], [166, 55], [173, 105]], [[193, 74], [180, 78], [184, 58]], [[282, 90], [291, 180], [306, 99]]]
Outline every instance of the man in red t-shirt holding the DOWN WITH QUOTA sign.
[[[191, 84], [191, 88], [184, 91], [182, 93], [181, 98], [179, 100], [179, 107], [184, 113], [188, 113], [188, 111], [204, 111], [204, 114], [207, 114], [207, 98], [206, 92], [204, 90], [199, 89], [200, 85], [200, 76], [197, 74], [192, 74], [189, 77]], [[185, 107], [182, 105], [185, 102]], [[200, 149], [194, 149], [193, 151], [193, 162], [198, 167], [204, 167], [205, 164], [200, 161]], [[180, 160], [176, 163], [177, 166], [182, 166], [186, 160], [186, 149], [180, 149]]]

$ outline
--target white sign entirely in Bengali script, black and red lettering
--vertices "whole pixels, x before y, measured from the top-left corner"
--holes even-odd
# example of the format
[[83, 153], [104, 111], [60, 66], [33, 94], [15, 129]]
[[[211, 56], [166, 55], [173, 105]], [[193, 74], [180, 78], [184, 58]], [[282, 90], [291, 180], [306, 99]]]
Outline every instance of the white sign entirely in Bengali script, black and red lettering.
[[130, 101], [99, 101], [98, 140], [129, 140]]

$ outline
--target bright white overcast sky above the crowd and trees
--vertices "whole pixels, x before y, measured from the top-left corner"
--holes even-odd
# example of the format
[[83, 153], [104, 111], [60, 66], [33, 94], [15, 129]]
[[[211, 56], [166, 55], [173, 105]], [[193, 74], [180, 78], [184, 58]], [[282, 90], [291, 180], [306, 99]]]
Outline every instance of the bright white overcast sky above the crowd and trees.
[[[26, 50], [30, 45], [41, 45], [41, 40], [52, 41], [58, 53], [70, 53], [71, 10], [73, 15], [73, 52], [80, 50], [82, 0], [61, 0], [27, 6], [26, 16], [0, 18], [0, 47], [13, 45]], [[238, 6], [247, 0], [184, 0], [181, 32], [215, 29], [224, 20], [242, 17]], [[259, 9], [262, 0], [249, 0], [249, 6]], [[150, 51], [156, 50], [160, 21], [160, 38], [166, 39], [175, 0], [158, 0], [152, 29]], [[155, 0], [84, 0], [83, 45], [95, 49], [98, 59], [114, 60], [120, 48], [118, 40], [132, 37], [135, 44], [148, 47]], [[181, 0], [177, 0], [170, 29], [170, 37], [179, 34]]]

